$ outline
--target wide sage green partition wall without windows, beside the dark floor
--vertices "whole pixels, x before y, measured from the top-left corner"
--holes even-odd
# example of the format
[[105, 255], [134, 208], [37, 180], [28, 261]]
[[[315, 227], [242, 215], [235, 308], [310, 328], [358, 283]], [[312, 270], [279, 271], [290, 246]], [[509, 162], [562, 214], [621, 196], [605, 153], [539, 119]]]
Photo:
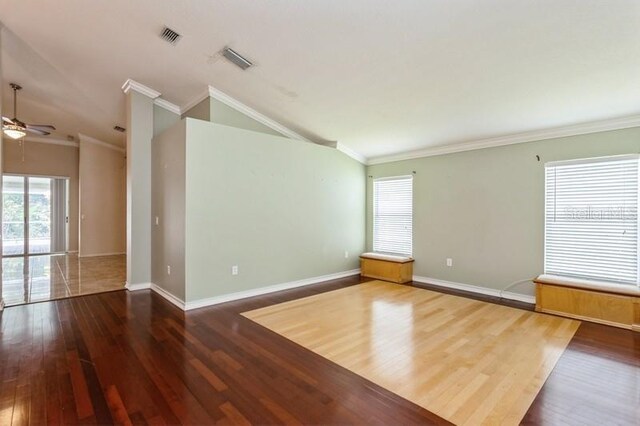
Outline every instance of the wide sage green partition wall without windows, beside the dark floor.
[[186, 123], [187, 301], [358, 268], [363, 165], [333, 148]]

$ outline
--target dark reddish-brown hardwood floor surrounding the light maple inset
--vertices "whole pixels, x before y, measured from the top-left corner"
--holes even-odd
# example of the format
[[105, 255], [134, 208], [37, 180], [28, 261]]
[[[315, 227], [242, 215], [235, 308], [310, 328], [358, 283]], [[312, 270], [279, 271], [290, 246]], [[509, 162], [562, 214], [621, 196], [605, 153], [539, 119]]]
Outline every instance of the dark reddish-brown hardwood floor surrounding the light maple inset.
[[[242, 317], [358, 277], [184, 313], [151, 291], [6, 308], [0, 425], [442, 424]], [[640, 424], [640, 334], [584, 323], [529, 424]]]

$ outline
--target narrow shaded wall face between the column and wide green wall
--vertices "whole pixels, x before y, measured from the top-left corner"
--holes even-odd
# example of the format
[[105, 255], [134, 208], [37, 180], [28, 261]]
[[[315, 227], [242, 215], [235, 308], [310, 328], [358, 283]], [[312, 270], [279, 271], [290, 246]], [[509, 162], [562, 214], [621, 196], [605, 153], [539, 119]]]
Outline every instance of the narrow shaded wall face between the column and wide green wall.
[[[151, 148], [151, 279], [182, 300], [185, 297], [185, 129], [185, 121], [180, 120], [155, 136]], [[171, 267], [171, 274], [167, 266]]]

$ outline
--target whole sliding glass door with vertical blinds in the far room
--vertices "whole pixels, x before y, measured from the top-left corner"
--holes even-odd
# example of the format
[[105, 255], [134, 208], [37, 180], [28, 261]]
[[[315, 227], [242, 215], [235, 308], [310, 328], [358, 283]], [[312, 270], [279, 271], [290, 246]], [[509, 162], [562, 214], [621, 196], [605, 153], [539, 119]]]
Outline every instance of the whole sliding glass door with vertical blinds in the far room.
[[2, 255], [67, 251], [69, 178], [3, 175]]

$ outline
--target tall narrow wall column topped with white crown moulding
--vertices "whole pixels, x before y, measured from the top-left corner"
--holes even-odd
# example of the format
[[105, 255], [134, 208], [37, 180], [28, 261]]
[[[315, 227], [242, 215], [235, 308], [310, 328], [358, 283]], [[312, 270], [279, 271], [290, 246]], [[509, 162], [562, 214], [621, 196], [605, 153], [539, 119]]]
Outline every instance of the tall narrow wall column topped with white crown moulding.
[[151, 284], [151, 139], [160, 93], [132, 80], [127, 97], [127, 288]]

